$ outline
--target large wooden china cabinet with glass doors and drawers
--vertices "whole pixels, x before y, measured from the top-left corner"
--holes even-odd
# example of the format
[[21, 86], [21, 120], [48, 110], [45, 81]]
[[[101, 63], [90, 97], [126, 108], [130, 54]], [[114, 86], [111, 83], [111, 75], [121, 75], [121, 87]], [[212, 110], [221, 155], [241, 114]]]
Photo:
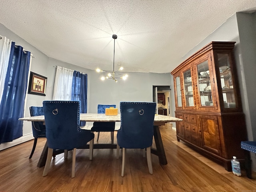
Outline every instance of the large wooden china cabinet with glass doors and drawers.
[[236, 42], [210, 42], [175, 68], [177, 140], [222, 164], [244, 160], [246, 125], [232, 50]]

